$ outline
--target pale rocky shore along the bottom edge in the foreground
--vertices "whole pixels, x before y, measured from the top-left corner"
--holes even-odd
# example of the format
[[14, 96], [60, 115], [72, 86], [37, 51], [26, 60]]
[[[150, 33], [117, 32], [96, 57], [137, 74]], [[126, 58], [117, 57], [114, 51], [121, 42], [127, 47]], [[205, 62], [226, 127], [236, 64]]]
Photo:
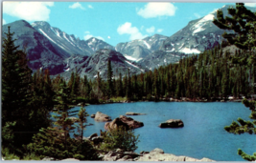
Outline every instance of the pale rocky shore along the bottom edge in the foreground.
[[161, 149], [154, 149], [149, 152], [133, 153], [123, 152], [120, 149], [102, 155], [103, 161], [203, 161], [212, 162], [209, 158], [197, 159], [189, 156], [177, 156], [171, 153], [164, 153]]

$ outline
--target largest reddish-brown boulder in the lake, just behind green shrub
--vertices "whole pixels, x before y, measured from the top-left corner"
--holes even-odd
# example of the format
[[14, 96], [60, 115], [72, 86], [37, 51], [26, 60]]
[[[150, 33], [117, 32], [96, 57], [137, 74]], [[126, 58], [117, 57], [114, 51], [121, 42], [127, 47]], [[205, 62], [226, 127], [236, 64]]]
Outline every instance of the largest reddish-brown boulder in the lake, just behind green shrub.
[[143, 122], [133, 120], [131, 117], [120, 115], [119, 118], [115, 118], [112, 122], [105, 123], [105, 130], [116, 129], [118, 127], [123, 127], [125, 129], [136, 129], [143, 127]]

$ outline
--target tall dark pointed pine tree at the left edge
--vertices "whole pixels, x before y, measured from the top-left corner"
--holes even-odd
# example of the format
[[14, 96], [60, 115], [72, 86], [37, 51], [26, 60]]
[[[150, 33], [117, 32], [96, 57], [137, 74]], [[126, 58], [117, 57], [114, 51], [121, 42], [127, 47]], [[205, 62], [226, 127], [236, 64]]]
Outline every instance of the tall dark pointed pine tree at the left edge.
[[[18, 51], [9, 31], [2, 51], [2, 145], [13, 153], [31, 141], [32, 71], [27, 66], [25, 51]], [[4, 132], [9, 131], [9, 132]]]

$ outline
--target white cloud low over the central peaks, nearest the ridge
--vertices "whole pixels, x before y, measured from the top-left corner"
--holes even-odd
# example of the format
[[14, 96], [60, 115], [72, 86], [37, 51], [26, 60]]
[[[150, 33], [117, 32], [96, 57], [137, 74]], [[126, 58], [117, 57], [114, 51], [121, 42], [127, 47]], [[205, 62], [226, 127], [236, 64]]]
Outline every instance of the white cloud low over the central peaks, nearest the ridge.
[[143, 35], [136, 27], [131, 27], [131, 23], [129, 22], [119, 26], [117, 32], [121, 35], [129, 34], [129, 40], [143, 39], [148, 36]]

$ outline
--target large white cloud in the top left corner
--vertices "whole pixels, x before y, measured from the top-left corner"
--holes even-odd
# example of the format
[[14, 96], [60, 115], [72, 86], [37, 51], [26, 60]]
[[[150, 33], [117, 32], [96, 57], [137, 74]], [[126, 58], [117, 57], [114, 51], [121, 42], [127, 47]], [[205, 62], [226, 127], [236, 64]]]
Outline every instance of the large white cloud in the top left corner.
[[27, 21], [47, 21], [54, 2], [3, 2], [3, 13]]

